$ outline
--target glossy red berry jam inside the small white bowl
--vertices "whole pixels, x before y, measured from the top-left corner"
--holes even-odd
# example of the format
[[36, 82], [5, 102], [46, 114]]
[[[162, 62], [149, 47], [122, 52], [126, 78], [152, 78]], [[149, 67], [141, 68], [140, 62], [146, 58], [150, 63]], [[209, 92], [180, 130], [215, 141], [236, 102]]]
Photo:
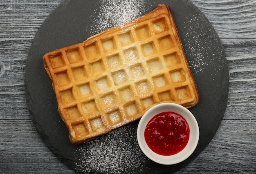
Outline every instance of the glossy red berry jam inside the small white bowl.
[[144, 132], [148, 147], [159, 155], [182, 151], [189, 141], [189, 125], [180, 114], [162, 112], [154, 116]]

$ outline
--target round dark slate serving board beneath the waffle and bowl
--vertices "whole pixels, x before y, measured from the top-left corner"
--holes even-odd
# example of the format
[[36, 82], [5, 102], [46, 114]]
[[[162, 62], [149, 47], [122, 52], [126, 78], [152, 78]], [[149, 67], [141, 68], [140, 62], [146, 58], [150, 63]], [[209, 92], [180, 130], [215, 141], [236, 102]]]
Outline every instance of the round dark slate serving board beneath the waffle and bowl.
[[[124, 3], [121, 0], [65, 0], [40, 27], [31, 45], [25, 70], [26, 98], [31, 119], [49, 149], [78, 172], [175, 172], [191, 162], [209, 144], [224, 116], [229, 79], [227, 60], [220, 39], [207, 18], [188, 0], [134, 0], [143, 4], [138, 6], [141, 8], [138, 15], [153, 10], [157, 4], [171, 7], [200, 95], [198, 105], [190, 109], [200, 128], [198, 147], [182, 163], [154, 163], [139, 149], [136, 138], [138, 121], [88, 143], [72, 145], [67, 128], [57, 111], [52, 84], [43, 67], [43, 55], [54, 49], [83, 42], [99, 32], [102, 22], [108, 22], [106, 24], [113, 27], [115, 20], [109, 18], [109, 21], [103, 21], [99, 18], [102, 17], [104, 3], [110, 2]], [[108, 11], [108, 15], [114, 16], [117, 13], [115, 7], [119, 6], [113, 4], [111, 8], [114, 9]]]

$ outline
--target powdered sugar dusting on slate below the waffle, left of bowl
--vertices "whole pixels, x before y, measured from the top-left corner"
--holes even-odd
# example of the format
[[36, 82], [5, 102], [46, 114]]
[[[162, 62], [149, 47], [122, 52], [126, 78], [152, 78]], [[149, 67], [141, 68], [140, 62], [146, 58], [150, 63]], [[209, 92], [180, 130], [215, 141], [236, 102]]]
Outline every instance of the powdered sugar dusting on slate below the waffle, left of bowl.
[[76, 152], [81, 156], [76, 162], [76, 170], [108, 174], [143, 172], [148, 158], [134, 143], [132, 125], [120, 129], [83, 144]]

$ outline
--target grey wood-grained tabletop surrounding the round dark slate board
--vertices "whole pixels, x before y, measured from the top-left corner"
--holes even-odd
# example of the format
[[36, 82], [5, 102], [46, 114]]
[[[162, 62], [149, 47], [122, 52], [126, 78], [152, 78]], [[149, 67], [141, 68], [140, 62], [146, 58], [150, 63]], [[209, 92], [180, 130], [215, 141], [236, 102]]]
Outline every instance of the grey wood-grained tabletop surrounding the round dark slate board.
[[[45, 18], [63, 0], [0, 1], [0, 173], [76, 173], [41, 140], [27, 110], [25, 66]], [[218, 132], [177, 173], [256, 172], [256, 0], [191, 0], [216, 29], [229, 65]]]

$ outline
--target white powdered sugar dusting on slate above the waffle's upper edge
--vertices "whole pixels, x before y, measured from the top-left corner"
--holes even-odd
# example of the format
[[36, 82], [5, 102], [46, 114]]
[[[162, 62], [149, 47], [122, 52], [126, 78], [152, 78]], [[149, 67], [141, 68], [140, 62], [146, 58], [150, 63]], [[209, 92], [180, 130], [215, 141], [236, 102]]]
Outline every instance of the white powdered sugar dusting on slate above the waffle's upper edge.
[[144, 4], [144, 0], [101, 0], [99, 16], [95, 19], [99, 21], [95, 31], [99, 33], [142, 16]]

